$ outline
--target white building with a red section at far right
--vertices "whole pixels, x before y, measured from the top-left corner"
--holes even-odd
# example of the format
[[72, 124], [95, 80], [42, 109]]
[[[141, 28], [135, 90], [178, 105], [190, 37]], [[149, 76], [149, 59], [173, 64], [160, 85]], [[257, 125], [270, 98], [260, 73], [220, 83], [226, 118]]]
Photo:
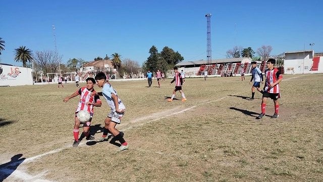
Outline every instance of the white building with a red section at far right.
[[323, 57], [314, 51], [286, 52], [284, 74], [323, 73]]

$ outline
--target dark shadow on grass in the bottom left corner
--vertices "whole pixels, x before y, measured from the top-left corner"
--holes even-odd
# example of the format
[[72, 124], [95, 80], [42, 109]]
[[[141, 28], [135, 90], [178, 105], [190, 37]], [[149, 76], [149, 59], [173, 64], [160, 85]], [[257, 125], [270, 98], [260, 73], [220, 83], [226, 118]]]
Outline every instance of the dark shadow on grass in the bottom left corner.
[[21, 158], [22, 154], [17, 154], [11, 158], [10, 162], [0, 165], [0, 181], [3, 181], [8, 176], [10, 176], [17, 167], [24, 162], [26, 158]]

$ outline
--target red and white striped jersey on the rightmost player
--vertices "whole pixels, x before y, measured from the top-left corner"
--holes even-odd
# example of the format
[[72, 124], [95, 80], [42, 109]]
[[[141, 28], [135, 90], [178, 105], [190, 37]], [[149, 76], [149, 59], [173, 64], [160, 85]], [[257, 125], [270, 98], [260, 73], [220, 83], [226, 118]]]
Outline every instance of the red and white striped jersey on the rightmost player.
[[266, 69], [264, 71], [264, 74], [266, 77], [264, 91], [266, 91], [268, 93], [278, 94], [279, 93], [279, 83], [272, 88], [269, 85], [271, 83], [275, 83], [278, 79], [283, 78], [283, 75], [281, 74], [281, 72], [277, 68], [274, 68], [273, 70]]

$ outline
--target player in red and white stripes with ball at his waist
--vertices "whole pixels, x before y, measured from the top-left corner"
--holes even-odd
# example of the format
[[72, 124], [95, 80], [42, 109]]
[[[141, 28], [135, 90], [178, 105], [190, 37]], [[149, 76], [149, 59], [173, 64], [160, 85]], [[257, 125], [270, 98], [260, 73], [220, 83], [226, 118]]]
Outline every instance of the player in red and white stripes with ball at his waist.
[[[88, 111], [91, 114], [91, 119], [85, 123], [83, 123], [83, 133], [86, 137], [86, 140], [95, 140], [94, 136], [90, 135], [90, 125], [91, 120], [93, 117], [93, 107], [100, 107], [101, 106], [101, 100], [98, 95], [95, 95], [95, 90], [93, 88], [95, 84], [94, 78], [88, 77], [86, 78], [86, 87], [81, 87], [80, 89], [76, 90], [75, 93], [73, 93], [71, 96], [66, 97], [63, 101], [68, 102], [70, 99], [81, 96], [80, 102], [78, 107], [75, 110], [75, 117], [74, 117], [74, 129], [73, 129], [73, 135], [74, 135], [74, 143], [73, 147], [77, 147], [79, 145], [79, 127], [81, 122], [77, 118], [77, 113], [81, 110]], [[93, 95], [92, 95], [93, 94]]]

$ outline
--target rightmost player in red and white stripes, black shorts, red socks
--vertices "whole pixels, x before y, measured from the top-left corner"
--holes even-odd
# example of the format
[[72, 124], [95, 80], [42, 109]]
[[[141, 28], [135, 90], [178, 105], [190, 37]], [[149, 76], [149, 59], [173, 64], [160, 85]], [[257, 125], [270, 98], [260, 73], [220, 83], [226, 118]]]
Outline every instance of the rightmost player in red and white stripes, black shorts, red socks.
[[280, 98], [279, 83], [282, 81], [283, 76], [281, 72], [274, 67], [275, 62], [276, 62], [275, 59], [269, 59], [267, 61], [268, 69], [264, 71], [266, 81], [265, 81], [265, 85], [262, 93], [261, 113], [259, 114], [259, 116], [256, 117], [256, 119], [260, 119], [264, 116], [268, 98], [271, 98], [272, 100], [274, 100], [274, 104], [275, 104], [275, 113], [271, 118], [279, 117], [278, 115], [278, 111], [279, 111], [278, 99]]

